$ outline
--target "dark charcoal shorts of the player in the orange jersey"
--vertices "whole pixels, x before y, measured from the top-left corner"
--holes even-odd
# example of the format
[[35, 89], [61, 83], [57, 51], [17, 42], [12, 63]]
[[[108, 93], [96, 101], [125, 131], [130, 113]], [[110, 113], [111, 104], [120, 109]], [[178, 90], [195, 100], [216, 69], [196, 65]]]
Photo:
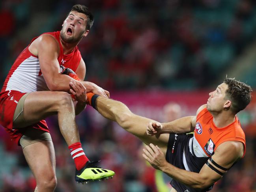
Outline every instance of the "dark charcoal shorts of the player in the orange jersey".
[[[166, 160], [170, 164], [185, 170], [183, 164], [183, 151], [184, 148], [188, 147], [190, 138], [193, 137], [193, 134], [170, 134], [168, 147], [166, 151]], [[205, 192], [207, 190], [196, 190], [189, 186], [183, 185], [176, 180], [172, 180], [170, 182], [173, 188], [177, 190], [177, 192]]]

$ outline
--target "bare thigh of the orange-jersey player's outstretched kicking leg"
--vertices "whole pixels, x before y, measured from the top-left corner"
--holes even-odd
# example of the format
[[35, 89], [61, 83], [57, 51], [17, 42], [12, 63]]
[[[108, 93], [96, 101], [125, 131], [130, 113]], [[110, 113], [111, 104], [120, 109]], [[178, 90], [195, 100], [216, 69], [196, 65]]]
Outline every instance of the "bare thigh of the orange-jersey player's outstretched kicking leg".
[[151, 121], [153, 121], [152, 119], [130, 114], [129, 116], [125, 117], [124, 121], [126, 121], [124, 123], [125, 130], [138, 137], [147, 145], [150, 143], [158, 145], [164, 154], [166, 153], [169, 134], [165, 133], [155, 136], [148, 136], [146, 133], [147, 126]]

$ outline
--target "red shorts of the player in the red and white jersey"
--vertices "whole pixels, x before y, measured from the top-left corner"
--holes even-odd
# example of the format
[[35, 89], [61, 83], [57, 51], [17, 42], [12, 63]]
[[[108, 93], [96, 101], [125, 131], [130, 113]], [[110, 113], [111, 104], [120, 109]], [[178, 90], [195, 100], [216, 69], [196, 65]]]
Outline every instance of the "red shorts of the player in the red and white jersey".
[[6, 132], [10, 134], [12, 140], [17, 145], [20, 145], [19, 140], [28, 128], [41, 129], [45, 132], [49, 132], [47, 123], [44, 119], [35, 123], [34, 125], [29, 125], [27, 127], [19, 129], [13, 129], [13, 115], [15, 112], [15, 108], [21, 97], [25, 94], [26, 93], [15, 90], [4, 91], [0, 93], [0, 124], [4, 127]]

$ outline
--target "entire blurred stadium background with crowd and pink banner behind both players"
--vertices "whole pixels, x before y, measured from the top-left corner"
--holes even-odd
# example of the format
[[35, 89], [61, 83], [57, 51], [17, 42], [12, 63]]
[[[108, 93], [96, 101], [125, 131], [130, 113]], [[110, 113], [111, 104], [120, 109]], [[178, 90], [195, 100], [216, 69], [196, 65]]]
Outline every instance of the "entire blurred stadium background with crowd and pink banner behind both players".
[[[136, 114], [165, 121], [163, 107], [169, 102], [181, 106], [182, 116], [195, 114], [226, 74], [256, 88], [254, 0], [1, 0], [1, 84], [30, 40], [60, 30], [74, 4], [88, 6], [95, 15], [92, 30], [78, 46], [86, 62], [86, 80], [109, 90], [111, 98]], [[254, 98], [239, 118], [247, 138], [245, 158], [213, 192], [256, 191]], [[116, 176], [77, 185], [57, 118], [47, 120], [56, 151], [57, 192], [157, 191], [155, 170], [141, 158], [141, 142], [90, 106], [77, 117], [84, 151], [91, 160], [101, 159]], [[3, 129], [0, 157], [0, 191], [33, 191], [35, 180], [21, 147]]]

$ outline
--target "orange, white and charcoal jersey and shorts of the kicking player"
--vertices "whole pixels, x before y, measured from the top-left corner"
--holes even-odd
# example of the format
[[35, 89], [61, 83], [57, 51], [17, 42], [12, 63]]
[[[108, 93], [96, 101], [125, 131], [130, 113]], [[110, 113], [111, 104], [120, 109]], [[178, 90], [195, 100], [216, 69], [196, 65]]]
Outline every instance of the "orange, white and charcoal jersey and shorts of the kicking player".
[[[214, 154], [217, 147], [223, 142], [239, 141], [244, 145], [245, 134], [241, 128], [239, 119], [222, 128], [215, 126], [213, 116], [204, 108], [196, 117], [194, 134], [170, 134], [166, 160], [183, 170], [199, 173], [207, 160]], [[178, 192], [207, 192], [213, 185], [204, 190], [198, 190], [185, 186], [176, 180], [170, 183]]]

